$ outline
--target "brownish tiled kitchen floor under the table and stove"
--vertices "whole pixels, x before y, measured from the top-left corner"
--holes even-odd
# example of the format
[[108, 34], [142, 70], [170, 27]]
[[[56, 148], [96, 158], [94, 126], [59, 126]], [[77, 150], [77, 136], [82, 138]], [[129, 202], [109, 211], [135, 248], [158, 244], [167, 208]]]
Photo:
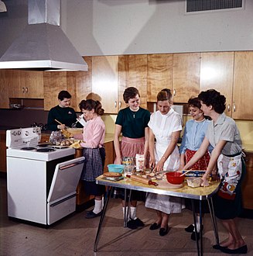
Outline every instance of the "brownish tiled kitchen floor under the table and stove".
[[[111, 199], [97, 252], [94, 253], [99, 218], [87, 220], [84, 212], [75, 213], [47, 229], [14, 222], [7, 216], [5, 178], [0, 178], [0, 182], [0, 255], [197, 255], [195, 242], [184, 231], [193, 220], [187, 209], [170, 217], [169, 234], [160, 237], [158, 230], [149, 230], [149, 225], [156, 217], [154, 211], [145, 209], [144, 204], [139, 203], [138, 217], [145, 222], [145, 227], [129, 230], [123, 227], [121, 202]], [[253, 220], [239, 218], [238, 227], [248, 244], [248, 255], [253, 255]], [[218, 229], [220, 240], [223, 240], [226, 233], [219, 222]], [[207, 214], [203, 230], [204, 255], [222, 255], [212, 248], [212, 244], [214, 232]]]

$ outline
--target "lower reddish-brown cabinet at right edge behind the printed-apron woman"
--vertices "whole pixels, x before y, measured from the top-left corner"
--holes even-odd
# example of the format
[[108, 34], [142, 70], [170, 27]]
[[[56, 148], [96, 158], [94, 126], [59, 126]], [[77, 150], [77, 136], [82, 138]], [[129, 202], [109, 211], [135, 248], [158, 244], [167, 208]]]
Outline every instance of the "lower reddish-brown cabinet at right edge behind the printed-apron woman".
[[253, 209], [253, 153], [246, 152], [246, 175], [242, 182], [242, 204], [244, 209]]

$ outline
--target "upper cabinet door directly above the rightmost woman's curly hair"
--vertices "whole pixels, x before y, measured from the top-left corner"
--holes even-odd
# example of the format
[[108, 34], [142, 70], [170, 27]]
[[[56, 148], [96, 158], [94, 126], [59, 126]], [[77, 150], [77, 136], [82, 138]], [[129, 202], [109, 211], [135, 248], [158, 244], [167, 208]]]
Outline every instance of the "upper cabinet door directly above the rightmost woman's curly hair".
[[210, 88], [226, 97], [227, 116], [231, 116], [234, 52], [202, 53], [200, 64], [200, 91]]

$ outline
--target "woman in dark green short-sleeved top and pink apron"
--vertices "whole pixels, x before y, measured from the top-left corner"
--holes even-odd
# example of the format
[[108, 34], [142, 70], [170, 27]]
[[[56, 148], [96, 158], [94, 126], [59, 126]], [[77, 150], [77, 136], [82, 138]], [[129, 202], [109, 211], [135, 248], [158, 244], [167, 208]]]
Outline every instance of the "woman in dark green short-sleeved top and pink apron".
[[[150, 112], [140, 107], [140, 94], [135, 87], [126, 88], [123, 99], [128, 107], [118, 112], [115, 122], [115, 164], [121, 164], [123, 157], [135, 157], [136, 154], [144, 154], [146, 159], [148, 156]], [[120, 197], [122, 199], [123, 216], [125, 216], [124, 189], [120, 191]], [[137, 200], [141, 199], [142, 192], [132, 191], [130, 216], [127, 216], [128, 228], [136, 229], [144, 226], [142, 220], [136, 216]]]

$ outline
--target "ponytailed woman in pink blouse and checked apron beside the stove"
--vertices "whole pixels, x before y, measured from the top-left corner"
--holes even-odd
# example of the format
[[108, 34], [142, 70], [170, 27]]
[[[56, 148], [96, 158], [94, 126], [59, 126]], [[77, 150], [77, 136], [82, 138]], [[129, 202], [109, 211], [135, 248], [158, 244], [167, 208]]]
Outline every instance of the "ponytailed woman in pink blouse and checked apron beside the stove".
[[86, 195], [95, 196], [94, 209], [86, 213], [86, 218], [91, 219], [101, 216], [103, 210], [102, 197], [105, 192], [104, 185], [97, 185], [96, 178], [104, 172], [104, 136], [105, 126], [101, 116], [104, 114], [101, 102], [93, 99], [82, 100], [79, 104], [84, 118], [87, 120], [84, 126], [84, 133], [74, 135], [75, 139], [84, 140], [80, 143], [84, 147], [84, 169], [81, 180], [84, 182], [84, 192]]

